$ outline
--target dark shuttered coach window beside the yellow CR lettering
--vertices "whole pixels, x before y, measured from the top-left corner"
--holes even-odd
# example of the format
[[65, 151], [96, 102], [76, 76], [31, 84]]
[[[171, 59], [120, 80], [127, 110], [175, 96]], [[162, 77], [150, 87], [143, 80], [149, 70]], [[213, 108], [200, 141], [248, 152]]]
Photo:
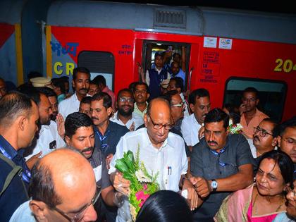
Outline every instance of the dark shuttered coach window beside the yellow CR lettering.
[[114, 56], [107, 51], [81, 51], [78, 55], [78, 66], [90, 70], [91, 80], [97, 75], [106, 78], [106, 85], [114, 90]]

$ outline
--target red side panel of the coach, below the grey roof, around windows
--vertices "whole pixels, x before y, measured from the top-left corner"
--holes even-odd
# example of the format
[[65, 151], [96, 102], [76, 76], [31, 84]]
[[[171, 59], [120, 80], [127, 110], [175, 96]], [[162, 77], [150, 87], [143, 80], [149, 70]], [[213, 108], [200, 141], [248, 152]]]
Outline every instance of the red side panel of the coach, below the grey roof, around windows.
[[[294, 44], [87, 27], [51, 26], [47, 29], [51, 30], [47, 44], [51, 49], [49, 58], [52, 58], [47, 73], [52, 73], [53, 78], [70, 75], [79, 65], [78, 57], [83, 51], [109, 52], [114, 59], [112, 87], [117, 93], [130, 82], [139, 80], [137, 63], [143, 60], [144, 41], [188, 44], [189, 70], [194, 68], [190, 89], [208, 89], [213, 107], [222, 106], [230, 78], [260, 79], [262, 82], [276, 80], [287, 85], [284, 118], [295, 114], [293, 97], [296, 91], [292, 87], [296, 80]], [[267, 92], [271, 90], [266, 87]]]

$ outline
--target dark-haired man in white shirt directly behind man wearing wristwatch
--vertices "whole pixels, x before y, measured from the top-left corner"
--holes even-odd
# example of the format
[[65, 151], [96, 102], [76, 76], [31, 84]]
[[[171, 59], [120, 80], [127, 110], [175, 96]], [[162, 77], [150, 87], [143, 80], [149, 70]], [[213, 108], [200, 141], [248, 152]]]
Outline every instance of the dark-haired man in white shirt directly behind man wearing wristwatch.
[[192, 147], [204, 136], [204, 118], [211, 109], [208, 90], [197, 89], [192, 91], [188, 102], [192, 114], [183, 119], [181, 131], [187, 146], [192, 150]]

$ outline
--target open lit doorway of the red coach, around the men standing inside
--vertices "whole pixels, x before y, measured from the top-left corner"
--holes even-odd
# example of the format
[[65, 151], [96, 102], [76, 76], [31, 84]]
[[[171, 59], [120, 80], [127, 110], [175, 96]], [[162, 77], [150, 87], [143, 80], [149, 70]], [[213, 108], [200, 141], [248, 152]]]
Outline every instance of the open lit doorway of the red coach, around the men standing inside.
[[187, 88], [187, 74], [189, 70], [190, 44], [182, 42], [156, 42], [144, 41], [143, 44], [143, 61], [144, 70], [155, 67], [154, 55], [156, 52], [164, 54], [164, 67], [172, 74], [171, 63], [173, 62], [173, 54], [180, 55], [180, 68], [185, 73], [185, 88]]

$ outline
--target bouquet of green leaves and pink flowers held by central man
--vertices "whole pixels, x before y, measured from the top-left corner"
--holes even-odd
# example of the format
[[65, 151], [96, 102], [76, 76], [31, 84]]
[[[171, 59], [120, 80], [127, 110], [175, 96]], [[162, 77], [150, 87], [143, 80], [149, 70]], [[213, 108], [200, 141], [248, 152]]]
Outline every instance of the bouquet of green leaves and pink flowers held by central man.
[[132, 220], [135, 221], [137, 213], [146, 201], [146, 199], [154, 192], [159, 190], [159, 184], [156, 183], [157, 176], [149, 175], [143, 162], [140, 162], [140, 148], [138, 147], [136, 158], [129, 150], [123, 154], [123, 158], [116, 160], [116, 169], [123, 173], [123, 178], [130, 180], [130, 193], [128, 200], [130, 202], [130, 214]]

